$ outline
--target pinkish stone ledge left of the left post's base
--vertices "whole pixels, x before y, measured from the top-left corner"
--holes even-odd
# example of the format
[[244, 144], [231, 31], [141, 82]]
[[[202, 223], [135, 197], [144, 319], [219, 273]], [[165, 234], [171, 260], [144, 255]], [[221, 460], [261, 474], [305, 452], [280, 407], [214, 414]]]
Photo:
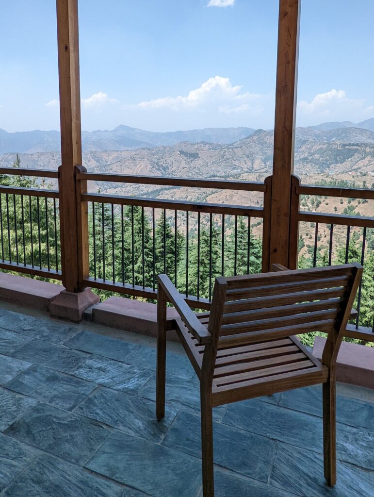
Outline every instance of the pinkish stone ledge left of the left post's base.
[[11, 304], [48, 311], [62, 290], [57, 283], [0, 272], [0, 300]]

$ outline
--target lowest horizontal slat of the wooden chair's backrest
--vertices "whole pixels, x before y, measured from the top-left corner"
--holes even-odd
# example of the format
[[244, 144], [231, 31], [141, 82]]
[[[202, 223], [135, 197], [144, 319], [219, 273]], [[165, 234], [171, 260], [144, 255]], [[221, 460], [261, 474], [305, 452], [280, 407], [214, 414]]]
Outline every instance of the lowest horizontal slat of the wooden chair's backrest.
[[315, 321], [313, 323], [303, 323], [296, 326], [285, 326], [284, 328], [273, 328], [265, 331], [252, 331], [249, 333], [238, 333], [236, 335], [227, 335], [220, 338], [223, 345], [239, 345], [241, 343], [253, 343], [260, 340], [274, 340], [285, 336], [299, 335], [300, 333], [309, 333], [310, 331], [331, 331], [334, 326], [334, 319]]

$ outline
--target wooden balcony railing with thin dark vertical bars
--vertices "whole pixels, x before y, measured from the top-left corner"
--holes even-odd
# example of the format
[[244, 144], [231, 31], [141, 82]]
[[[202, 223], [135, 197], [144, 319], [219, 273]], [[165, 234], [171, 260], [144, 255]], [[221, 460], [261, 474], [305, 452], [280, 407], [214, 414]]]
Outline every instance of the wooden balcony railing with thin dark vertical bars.
[[[0, 168], [0, 174], [37, 176], [56, 182], [57, 171]], [[201, 190], [241, 190], [262, 196], [262, 205], [243, 206], [191, 202], [149, 196], [121, 196], [90, 192], [91, 181], [104, 184], [199, 188]], [[77, 205], [87, 216], [86, 287], [155, 299], [156, 275], [167, 273], [195, 308], [209, 309], [213, 281], [217, 275], [243, 274], [268, 270], [270, 237], [270, 196], [272, 177], [263, 183], [192, 178], [168, 178], [122, 174], [75, 172]], [[60, 186], [61, 190], [61, 186]], [[290, 267], [298, 266], [299, 228], [307, 223], [314, 233], [309, 265], [316, 266], [352, 259], [350, 244], [355, 234], [361, 248], [355, 260], [364, 265], [365, 278], [360, 286], [355, 323], [347, 336], [374, 341], [374, 299], [365, 302], [373, 268], [368, 266], [371, 250], [368, 235], [373, 233], [374, 218], [300, 210], [300, 198], [321, 195], [335, 198], [374, 200], [373, 190], [300, 185], [292, 178]], [[0, 186], [0, 268], [64, 279], [60, 238], [61, 191], [46, 188]], [[77, 207], [77, 211], [78, 210]], [[325, 257], [320, 260], [319, 232], [328, 227]], [[344, 230], [344, 233], [343, 231]], [[256, 233], [254, 233], [256, 232]], [[324, 230], [326, 232], [326, 229]], [[336, 237], [344, 236], [344, 260], [334, 250]], [[83, 242], [82, 242], [83, 243]], [[342, 250], [339, 251], [340, 256]], [[300, 259], [299, 262], [305, 263]], [[365, 272], [366, 271], [366, 272]], [[372, 288], [372, 287], [371, 287]]]

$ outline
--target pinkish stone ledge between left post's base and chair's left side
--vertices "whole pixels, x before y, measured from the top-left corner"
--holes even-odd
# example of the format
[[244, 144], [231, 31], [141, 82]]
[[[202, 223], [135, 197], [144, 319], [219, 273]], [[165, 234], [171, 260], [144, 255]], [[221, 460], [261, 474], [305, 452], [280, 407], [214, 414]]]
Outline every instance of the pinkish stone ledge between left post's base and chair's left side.
[[[167, 309], [168, 319], [172, 320], [177, 316], [175, 309], [171, 307]], [[92, 322], [156, 337], [157, 305], [124, 297], [109, 297], [108, 300], [92, 307]], [[168, 331], [167, 339], [179, 341], [172, 330]]]

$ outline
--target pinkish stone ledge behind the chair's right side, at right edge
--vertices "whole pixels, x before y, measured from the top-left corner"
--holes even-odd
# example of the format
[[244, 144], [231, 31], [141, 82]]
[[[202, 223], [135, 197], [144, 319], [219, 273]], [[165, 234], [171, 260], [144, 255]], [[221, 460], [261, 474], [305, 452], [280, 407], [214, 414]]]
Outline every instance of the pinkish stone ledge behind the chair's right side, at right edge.
[[[316, 336], [313, 355], [322, 359], [326, 338]], [[336, 379], [343, 383], [374, 389], [374, 347], [342, 342], [336, 362]]]

